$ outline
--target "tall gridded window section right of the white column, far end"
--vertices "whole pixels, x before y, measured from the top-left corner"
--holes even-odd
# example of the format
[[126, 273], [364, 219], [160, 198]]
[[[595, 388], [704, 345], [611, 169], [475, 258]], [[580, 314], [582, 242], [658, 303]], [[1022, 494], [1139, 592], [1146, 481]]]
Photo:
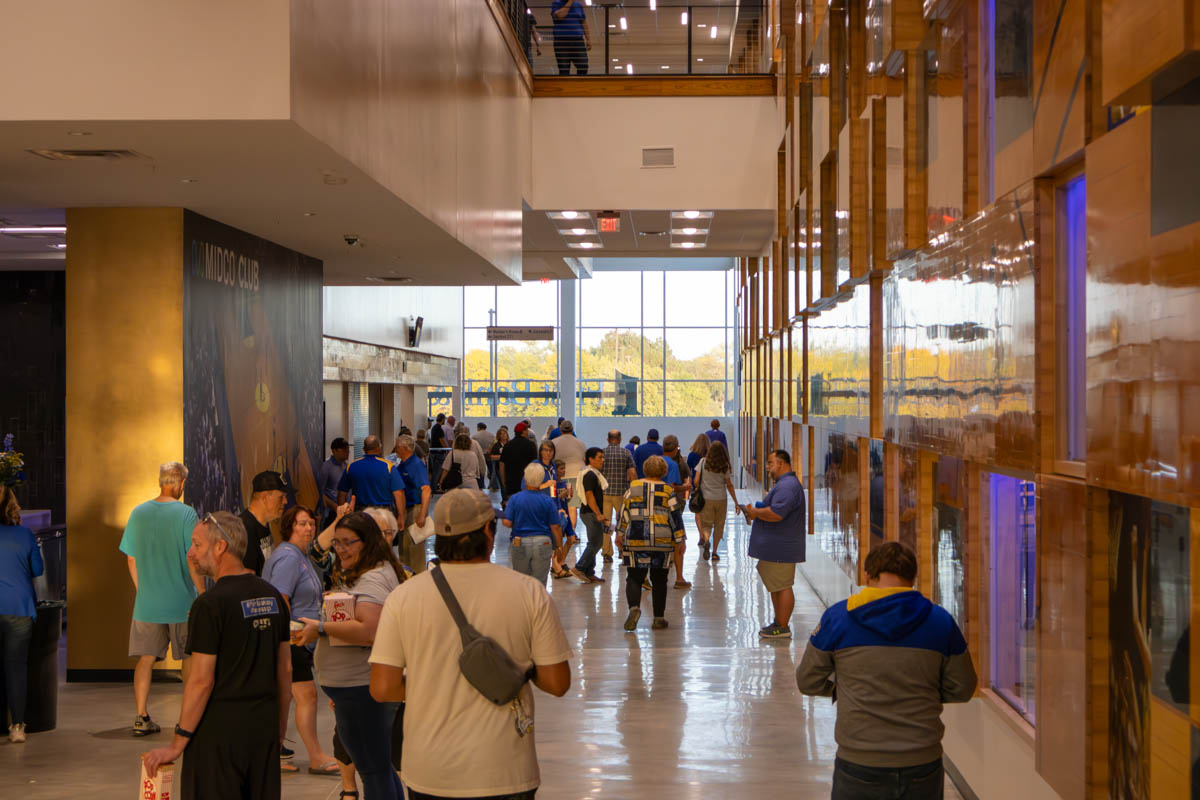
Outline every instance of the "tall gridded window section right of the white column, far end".
[[732, 411], [733, 271], [598, 271], [578, 281], [580, 416]]

